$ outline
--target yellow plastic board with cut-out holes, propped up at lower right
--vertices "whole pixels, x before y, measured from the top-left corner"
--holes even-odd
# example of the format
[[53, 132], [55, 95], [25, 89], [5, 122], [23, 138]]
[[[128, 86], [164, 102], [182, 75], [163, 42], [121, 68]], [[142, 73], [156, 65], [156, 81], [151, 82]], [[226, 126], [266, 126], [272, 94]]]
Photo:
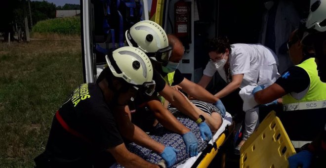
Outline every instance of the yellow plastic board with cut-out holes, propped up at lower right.
[[240, 168], [288, 168], [294, 147], [276, 113], [270, 112], [240, 150]]

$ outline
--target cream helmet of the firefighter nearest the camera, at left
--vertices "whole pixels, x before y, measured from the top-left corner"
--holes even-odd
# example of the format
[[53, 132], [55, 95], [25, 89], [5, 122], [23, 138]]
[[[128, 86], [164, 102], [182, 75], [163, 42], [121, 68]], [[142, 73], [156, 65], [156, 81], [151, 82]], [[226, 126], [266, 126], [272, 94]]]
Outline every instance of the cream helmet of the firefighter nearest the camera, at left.
[[[145, 93], [152, 95], [155, 89], [153, 67], [148, 56], [140, 49], [124, 46], [106, 55], [106, 62], [115, 77], [129, 84], [146, 86]], [[138, 88], [138, 87], [136, 87]]]

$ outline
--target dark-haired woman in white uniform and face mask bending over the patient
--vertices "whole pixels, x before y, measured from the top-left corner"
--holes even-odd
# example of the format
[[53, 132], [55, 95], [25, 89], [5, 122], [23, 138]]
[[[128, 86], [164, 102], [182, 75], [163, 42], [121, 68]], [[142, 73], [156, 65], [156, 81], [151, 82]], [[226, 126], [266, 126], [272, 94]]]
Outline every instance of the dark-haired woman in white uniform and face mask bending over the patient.
[[[261, 44], [230, 45], [227, 38], [215, 38], [209, 41], [207, 47], [210, 60], [199, 85], [205, 88], [218, 71], [228, 83], [214, 95], [218, 98], [230, 94], [239, 87], [273, 84], [280, 76], [277, 70], [277, 56], [271, 49]], [[244, 136], [236, 147], [236, 152], [259, 124], [258, 114], [258, 107], [245, 111]]]

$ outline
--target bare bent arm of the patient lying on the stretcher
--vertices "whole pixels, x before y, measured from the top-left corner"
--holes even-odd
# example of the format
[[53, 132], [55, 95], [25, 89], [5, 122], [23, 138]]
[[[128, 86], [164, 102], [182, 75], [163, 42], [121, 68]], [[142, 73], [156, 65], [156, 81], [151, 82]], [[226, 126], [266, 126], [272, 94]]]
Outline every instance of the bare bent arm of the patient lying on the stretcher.
[[205, 113], [201, 109], [199, 109], [196, 105], [194, 105], [187, 96], [185, 96], [182, 92], [180, 92], [184, 98], [194, 107], [197, 113], [201, 114], [205, 118], [206, 124], [209, 126], [210, 130], [215, 133], [218, 128], [222, 125], [222, 117], [221, 115], [217, 113], [211, 113], [212, 115], [210, 116], [209, 114]]

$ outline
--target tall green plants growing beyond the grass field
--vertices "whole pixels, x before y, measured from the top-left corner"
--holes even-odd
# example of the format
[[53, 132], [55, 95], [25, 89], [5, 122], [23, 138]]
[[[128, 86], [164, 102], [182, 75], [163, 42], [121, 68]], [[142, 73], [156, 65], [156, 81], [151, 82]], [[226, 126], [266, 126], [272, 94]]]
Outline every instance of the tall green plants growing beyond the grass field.
[[81, 34], [81, 17], [65, 17], [39, 21], [32, 33], [57, 33], [63, 35]]

